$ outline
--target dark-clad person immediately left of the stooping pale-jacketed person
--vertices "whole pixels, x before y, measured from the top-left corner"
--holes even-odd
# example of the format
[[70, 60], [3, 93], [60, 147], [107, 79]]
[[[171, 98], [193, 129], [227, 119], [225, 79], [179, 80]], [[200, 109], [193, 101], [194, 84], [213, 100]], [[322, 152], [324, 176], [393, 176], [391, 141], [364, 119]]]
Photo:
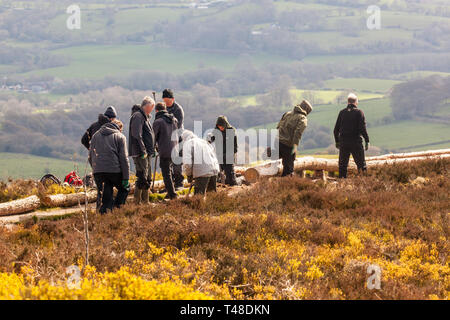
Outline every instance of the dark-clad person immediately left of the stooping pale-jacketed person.
[[172, 152], [178, 152], [178, 121], [173, 114], [167, 112], [164, 102], [157, 103], [155, 110], [153, 130], [155, 131], [155, 141], [160, 157], [160, 167], [167, 198], [173, 200], [177, 198], [177, 193], [172, 176]]

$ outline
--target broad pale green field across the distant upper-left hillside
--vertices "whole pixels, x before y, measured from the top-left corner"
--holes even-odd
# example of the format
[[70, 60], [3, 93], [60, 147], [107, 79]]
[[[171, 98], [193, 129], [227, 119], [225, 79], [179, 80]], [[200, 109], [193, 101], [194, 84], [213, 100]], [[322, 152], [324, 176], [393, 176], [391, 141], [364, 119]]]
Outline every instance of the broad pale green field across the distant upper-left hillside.
[[[70, 56], [70, 65], [36, 70], [24, 75], [53, 75], [62, 79], [101, 79], [107, 76], [131, 74], [139, 71], [161, 71], [181, 74], [200, 67], [232, 70], [241, 56], [174, 50], [146, 45], [79, 46], [54, 50]], [[250, 56], [255, 65], [269, 62], [288, 63], [290, 60], [269, 54]]]

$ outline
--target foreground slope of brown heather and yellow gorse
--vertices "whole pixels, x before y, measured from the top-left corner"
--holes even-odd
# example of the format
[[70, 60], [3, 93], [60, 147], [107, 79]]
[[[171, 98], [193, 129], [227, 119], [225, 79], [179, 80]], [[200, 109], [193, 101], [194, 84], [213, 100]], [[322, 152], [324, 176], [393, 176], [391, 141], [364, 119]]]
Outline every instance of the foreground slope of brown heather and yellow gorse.
[[[404, 164], [329, 183], [271, 178], [233, 196], [222, 191], [206, 201], [92, 212], [89, 266], [75, 231], [83, 228], [81, 216], [29, 221], [0, 232], [2, 279], [13, 283], [0, 292], [156, 299], [145, 291], [171, 292], [178, 284], [179, 295], [164, 289], [160, 297], [448, 299], [449, 163]], [[399, 172], [409, 180], [399, 182]], [[414, 182], [418, 176], [421, 183]], [[367, 288], [371, 264], [381, 268], [381, 290]], [[85, 267], [82, 291], [65, 288], [71, 265]], [[122, 276], [118, 286], [114, 279]], [[101, 288], [95, 279], [103, 279]], [[60, 295], [37, 289], [47, 284]]]

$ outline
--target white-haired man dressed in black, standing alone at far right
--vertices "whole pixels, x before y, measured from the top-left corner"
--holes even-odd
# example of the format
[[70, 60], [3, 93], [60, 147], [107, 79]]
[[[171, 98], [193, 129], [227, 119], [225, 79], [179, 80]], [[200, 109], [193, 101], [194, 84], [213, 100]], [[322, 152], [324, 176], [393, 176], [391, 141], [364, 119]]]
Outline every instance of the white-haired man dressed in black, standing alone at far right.
[[[365, 140], [365, 147], [362, 138]], [[358, 109], [358, 97], [353, 93], [348, 96], [347, 107], [339, 112], [334, 127], [334, 139], [336, 148], [339, 149], [339, 177], [347, 178], [350, 155], [355, 160], [358, 172], [366, 172], [364, 150], [369, 150], [369, 135], [364, 112]]]

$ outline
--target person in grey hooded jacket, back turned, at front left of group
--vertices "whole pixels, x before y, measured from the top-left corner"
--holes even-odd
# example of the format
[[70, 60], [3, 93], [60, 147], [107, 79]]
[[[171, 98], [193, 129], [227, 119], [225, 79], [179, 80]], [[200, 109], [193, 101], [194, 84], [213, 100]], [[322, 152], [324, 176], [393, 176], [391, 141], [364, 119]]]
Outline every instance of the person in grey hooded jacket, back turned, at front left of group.
[[[122, 122], [113, 120], [104, 124], [91, 139], [89, 163], [97, 188], [101, 190], [97, 194], [97, 209], [101, 214], [125, 204], [130, 191], [130, 162], [122, 129]], [[117, 189], [115, 198], [114, 188]]]

